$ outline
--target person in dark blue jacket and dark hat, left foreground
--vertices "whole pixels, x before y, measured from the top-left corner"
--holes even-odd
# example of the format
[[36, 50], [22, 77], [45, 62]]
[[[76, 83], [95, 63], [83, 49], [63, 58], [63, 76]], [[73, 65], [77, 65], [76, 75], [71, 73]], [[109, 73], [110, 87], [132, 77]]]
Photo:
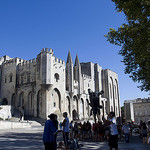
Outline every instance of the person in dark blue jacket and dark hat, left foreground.
[[50, 114], [48, 119], [44, 125], [44, 133], [43, 133], [43, 142], [45, 146], [45, 150], [55, 150], [56, 149], [56, 138], [55, 133], [57, 132], [56, 128], [56, 115]]

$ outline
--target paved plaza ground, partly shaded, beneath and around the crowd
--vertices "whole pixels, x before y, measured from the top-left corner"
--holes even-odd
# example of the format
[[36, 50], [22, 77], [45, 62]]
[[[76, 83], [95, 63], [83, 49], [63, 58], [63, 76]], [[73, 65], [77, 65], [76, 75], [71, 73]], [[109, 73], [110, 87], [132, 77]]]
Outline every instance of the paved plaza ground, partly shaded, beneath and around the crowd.
[[[0, 130], [0, 150], [44, 150], [43, 127]], [[79, 141], [83, 150], [109, 150], [107, 142]], [[130, 143], [119, 142], [119, 150], [150, 150], [150, 144], [143, 144], [138, 135]]]

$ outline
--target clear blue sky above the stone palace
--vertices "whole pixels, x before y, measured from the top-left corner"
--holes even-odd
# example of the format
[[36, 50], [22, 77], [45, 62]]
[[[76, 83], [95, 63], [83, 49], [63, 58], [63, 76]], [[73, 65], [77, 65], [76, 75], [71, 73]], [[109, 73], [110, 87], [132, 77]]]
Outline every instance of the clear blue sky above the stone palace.
[[52, 48], [66, 62], [70, 50], [73, 62], [78, 55], [80, 62], [118, 74], [122, 106], [124, 100], [150, 97], [124, 74], [121, 47], [104, 37], [125, 22], [111, 0], [0, 0], [0, 57], [30, 60], [42, 48]]

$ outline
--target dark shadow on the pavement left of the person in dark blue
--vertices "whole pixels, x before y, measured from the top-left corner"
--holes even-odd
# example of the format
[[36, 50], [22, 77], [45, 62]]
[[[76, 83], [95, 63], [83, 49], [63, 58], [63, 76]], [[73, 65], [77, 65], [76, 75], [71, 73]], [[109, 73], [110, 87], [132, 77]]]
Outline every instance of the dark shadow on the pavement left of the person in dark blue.
[[0, 150], [43, 150], [42, 133], [12, 133], [0, 135]]

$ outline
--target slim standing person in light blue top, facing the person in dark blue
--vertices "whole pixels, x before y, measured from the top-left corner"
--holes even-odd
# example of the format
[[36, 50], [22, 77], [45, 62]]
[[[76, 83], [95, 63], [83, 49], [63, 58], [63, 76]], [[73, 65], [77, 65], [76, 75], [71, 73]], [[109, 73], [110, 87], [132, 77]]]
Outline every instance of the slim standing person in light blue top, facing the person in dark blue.
[[68, 148], [68, 141], [69, 141], [69, 118], [67, 117], [67, 112], [63, 113], [64, 120], [62, 122], [63, 131], [64, 131], [64, 143], [66, 149]]

